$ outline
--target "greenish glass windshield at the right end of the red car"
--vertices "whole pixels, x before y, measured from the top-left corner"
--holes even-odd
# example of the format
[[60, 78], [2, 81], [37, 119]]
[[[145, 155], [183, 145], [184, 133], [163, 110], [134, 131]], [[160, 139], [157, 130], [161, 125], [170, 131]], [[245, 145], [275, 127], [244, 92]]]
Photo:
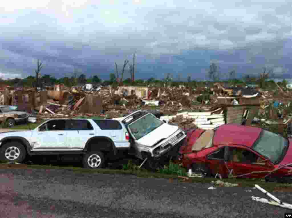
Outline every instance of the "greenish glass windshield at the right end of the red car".
[[253, 144], [253, 150], [276, 163], [281, 158], [286, 146], [288, 146], [287, 139], [275, 133], [262, 130], [259, 139]]

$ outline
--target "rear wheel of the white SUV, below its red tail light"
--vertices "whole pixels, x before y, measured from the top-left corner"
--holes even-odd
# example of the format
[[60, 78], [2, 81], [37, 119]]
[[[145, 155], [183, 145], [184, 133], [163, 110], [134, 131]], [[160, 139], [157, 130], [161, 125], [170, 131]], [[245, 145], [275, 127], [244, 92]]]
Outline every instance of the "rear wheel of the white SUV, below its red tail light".
[[98, 169], [105, 165], [105, 156], [101, 151], [90, 151], [83, 156], [83, 167]]

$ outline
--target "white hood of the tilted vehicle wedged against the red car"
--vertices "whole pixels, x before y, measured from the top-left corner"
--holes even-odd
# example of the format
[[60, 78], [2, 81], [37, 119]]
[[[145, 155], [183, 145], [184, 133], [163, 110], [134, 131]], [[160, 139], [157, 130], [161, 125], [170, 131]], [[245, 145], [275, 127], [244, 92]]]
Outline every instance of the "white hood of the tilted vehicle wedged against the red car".
[[151, 147], [161, 139], [166, 139], [168, 136], [170, 136], [177, 130], [178, 130], [177, 126], [164, 123], [157, 129], [154, 129], [152, 132], [147, 134], [146, 136], [143, 136], [141, 139], [136, 140], [136, 142], [141, 145]]

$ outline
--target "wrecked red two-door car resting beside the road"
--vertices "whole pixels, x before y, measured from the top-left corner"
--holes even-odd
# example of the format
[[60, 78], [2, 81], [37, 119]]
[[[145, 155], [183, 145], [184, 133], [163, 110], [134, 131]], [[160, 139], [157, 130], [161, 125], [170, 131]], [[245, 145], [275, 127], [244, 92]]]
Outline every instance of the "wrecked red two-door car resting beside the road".
[[[184, 167], [199, 170], [205, 176], [265, 177], [266, 181], [291, 182], [291, 145], [291, 138], [260, 128], [224, 124], [214, 130], [192, 129], [179, 157]], [[290, 163], [290, 167], [286, 166]]]

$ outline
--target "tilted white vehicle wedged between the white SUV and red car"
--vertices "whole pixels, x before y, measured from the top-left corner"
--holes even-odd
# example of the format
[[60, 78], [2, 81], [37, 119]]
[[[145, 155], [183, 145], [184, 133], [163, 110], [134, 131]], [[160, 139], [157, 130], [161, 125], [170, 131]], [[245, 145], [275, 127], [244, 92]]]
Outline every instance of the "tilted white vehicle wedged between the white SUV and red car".
[[159, 165], [159, 160], [178, 155], [186, 137], [178, 126], [168, 124], [146, 110], [135, 111], [119, 120], [130, 133], [130, 154], [141, 160], [147, 158], [152, 169]]

